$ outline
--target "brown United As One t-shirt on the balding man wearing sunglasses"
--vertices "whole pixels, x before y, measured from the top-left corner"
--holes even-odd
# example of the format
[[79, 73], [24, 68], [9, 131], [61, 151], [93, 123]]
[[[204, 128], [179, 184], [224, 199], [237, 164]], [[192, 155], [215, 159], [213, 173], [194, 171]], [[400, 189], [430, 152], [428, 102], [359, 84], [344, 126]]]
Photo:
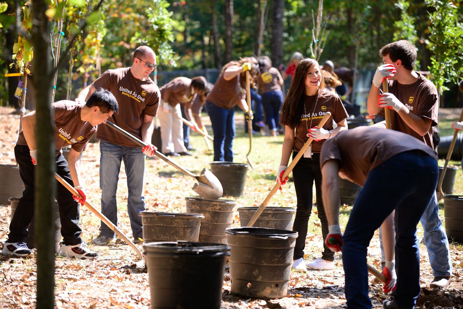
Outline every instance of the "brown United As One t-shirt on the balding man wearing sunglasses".
[[[93, 85], [111, 91], [119, 103], [119, 114], [114, 113], [108, 120], [141, 139], [144, 115], [155, 117], [159, 107], [161, 95], [156, 84], [149, 77], [136, 79], [130, 68], [117, 68], [101, 74]], [[100, 125], [96, 138], [120, 146], [139, 147], [107, 125]]]

